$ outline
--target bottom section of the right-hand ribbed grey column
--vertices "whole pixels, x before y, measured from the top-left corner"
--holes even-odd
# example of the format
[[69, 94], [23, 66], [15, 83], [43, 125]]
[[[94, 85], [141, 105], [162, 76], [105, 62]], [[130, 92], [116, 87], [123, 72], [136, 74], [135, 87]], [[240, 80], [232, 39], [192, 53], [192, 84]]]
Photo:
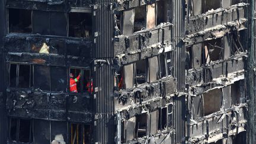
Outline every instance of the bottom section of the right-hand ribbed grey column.
[[174, 101], [173, 121], [176, 133], [172, 137], [172, 143], [183, 143], [185, 138], [185, 96], [175, 97]]

